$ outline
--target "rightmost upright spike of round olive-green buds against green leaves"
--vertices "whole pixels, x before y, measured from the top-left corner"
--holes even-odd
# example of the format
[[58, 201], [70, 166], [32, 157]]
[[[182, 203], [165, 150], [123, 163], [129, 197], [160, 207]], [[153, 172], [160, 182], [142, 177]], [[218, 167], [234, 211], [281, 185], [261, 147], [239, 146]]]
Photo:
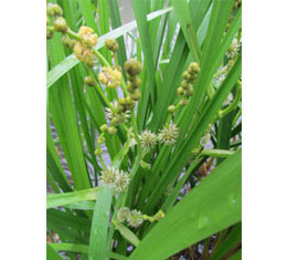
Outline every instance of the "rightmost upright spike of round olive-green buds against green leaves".
[[188, 70], [183, 72], [180, 87], [177, 90], [177, 95], [182, 96], [180, 105], [188, 105], [189, 97], [193, 95], [193, 84], [200, 73], [200, 66], [196, 62], [191, 62]]

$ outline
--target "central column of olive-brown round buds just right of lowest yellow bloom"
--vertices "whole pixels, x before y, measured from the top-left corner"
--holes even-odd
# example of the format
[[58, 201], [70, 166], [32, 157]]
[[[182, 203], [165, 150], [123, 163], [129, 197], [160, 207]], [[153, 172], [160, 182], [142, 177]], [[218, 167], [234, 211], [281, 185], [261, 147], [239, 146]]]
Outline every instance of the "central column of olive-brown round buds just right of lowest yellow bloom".
[[139, 87], [141, 85], [141, 80], [139, 79], [141, 64], [137, 60], [130, 59], [125, 63], [125, 70], [128, 76], [127, 91], [131, 100], [136, 102], [141, 96], [141, 93], [139, 91]]

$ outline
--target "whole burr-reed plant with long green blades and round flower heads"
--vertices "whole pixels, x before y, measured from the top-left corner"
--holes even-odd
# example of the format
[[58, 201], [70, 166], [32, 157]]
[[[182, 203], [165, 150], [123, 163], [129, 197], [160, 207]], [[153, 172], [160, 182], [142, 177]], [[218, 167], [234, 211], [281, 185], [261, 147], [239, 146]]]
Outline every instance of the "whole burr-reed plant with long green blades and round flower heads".
[[240, 259], [241, 1], [119, 3], [46, 3], [47, 259]]

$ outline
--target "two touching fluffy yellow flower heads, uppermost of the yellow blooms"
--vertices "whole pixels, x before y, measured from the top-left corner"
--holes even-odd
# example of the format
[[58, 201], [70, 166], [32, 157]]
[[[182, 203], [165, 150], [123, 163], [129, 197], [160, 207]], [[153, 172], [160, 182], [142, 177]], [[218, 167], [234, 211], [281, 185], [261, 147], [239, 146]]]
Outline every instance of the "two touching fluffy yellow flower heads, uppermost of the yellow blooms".
[[93, 66], [93, 46], [97, 44], [97, 34], [93, 33], [93, 29], [89, 27], [81, 27], [77, 34], [82, 38], [82, 41], [74, 41], [71, 45], [75, 56], [88, 66]]

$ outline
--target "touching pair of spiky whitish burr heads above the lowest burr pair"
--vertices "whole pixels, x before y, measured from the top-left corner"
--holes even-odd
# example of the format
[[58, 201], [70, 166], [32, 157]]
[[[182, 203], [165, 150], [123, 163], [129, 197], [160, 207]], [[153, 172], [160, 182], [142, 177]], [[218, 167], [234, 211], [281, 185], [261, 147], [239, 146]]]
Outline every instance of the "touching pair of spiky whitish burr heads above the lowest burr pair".
[[129, 185], [128, 175], [125, 171], [118, 170], [114, 167], [108, 167], [107, 169], [103, 170], [100, 180], [103, 186], [114, 188], [117, 194], [125, 191]]

